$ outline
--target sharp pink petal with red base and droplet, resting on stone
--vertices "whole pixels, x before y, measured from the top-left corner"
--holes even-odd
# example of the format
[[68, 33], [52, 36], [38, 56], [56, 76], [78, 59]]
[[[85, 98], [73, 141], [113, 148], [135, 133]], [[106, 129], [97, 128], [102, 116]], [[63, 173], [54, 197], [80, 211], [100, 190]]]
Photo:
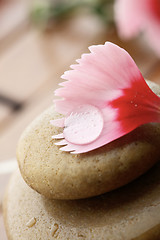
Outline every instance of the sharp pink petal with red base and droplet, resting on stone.
[[160, 121], [160, 98], [146, 84], [131, 56], [106, 42], [92, 46], [57, 89], [57, 112], [64, 118], [53, 136], [61, 150], [84, 153], [99, 148], [148, 122]]

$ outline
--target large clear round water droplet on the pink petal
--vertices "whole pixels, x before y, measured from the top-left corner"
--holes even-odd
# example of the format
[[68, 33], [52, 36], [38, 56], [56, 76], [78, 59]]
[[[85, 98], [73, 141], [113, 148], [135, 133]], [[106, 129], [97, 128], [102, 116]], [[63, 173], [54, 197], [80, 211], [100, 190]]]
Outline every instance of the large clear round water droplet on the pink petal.
[[65, 118], [64, 137], [74, 144], [88, 144], [96, 140], [103, 129], [103, 115], [92, 105], [83, 105]]

